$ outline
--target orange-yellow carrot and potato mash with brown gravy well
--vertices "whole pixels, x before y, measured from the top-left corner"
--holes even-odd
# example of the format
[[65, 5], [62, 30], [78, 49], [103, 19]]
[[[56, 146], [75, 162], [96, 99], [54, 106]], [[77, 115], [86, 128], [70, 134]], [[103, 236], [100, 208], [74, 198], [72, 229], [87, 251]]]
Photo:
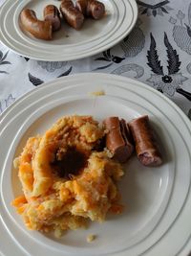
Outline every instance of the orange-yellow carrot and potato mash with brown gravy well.
[[28, 228], [61, 234], [119, 213], [119, 163], [96, 151], [103, 128], [91, 116], [65, 116], [29, 138], [15, 160], [24, 195], [12, 205]]

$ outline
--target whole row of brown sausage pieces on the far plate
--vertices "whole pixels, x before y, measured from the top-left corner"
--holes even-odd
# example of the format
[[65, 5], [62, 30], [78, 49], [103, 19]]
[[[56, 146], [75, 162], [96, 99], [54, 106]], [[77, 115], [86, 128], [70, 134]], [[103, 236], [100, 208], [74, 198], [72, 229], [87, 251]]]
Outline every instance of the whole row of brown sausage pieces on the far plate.
[[54, 5], [44, 8], [44, 20], [39, 20], [34, 11], [23, 9], [20, 13], [20, 26], [36, 38], [52, 40], [53, 32], [60, 30], [62, 22], [80, 30], [85, 17], [98, 20], [104, 15], [105, 6], [97, 0], [76, 0], [75, 4], [72, 0], [62, 0], [59, 10]]

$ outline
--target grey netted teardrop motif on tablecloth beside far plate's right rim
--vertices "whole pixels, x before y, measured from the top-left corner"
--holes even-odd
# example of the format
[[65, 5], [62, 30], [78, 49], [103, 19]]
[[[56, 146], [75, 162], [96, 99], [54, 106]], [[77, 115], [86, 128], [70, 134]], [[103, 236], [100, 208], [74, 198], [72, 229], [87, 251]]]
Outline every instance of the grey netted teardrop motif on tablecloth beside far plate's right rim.
[[145, 35], [139, 26], [142, 24], [142, 21], [138, 18], [137, 24], [130, 35], [127, 35], [122, 42], [120, 47], [124, 52], [126, 58], [136, 57], [144, 48], [145, 45]]

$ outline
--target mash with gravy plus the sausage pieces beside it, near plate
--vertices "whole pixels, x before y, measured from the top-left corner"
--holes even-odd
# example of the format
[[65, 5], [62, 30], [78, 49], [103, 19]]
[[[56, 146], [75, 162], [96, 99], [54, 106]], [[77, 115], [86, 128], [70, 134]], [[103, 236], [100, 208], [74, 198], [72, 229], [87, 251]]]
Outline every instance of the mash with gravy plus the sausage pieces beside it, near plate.
[[134, 148], [143, 165], [161, 164], [148, 116], [129, 124], [116, 116], [101, 124], [92, 116], [64, 116], [44, 135], [29, 138], [15, 158], [24, 195], [12, 205], [28, 228], [54, 230], [57, 237], [88, 221], [104, 221], [108, 212], [119, 214], [121, 163]]

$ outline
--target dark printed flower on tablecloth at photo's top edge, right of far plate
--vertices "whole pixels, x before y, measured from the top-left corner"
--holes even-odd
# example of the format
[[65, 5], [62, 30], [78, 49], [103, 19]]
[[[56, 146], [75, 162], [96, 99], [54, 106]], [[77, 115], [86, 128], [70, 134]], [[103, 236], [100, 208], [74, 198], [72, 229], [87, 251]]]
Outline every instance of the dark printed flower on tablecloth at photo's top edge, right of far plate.
[[165, 13], [169, 13], [169, 11], [173, 10], [168, 4], [170, 1], [160, 1], [159, 3], [150, 3], [148, 4], [148, 1], [139, 1], [138, 3], [138, 10], [140, 14], [146, 14], [147, 16], [153, 15], [156, 17], [157, 15], [163, 16]]

